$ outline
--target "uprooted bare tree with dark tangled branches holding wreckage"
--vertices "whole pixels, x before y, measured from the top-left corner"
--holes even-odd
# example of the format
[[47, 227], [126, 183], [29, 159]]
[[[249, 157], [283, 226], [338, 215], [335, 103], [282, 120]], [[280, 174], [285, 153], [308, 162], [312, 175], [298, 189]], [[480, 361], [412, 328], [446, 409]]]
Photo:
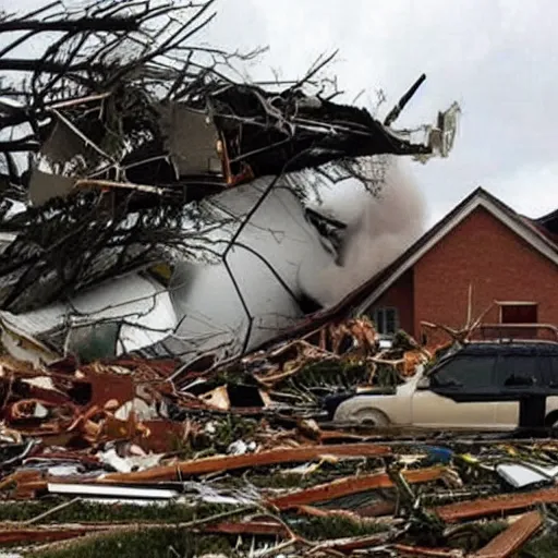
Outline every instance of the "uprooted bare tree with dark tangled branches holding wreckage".
[[[0, 15], [0, 229], [15, 234], [0, 254], [1, 310], [25, 312], [177, 254], [227, 265], [250, 214], [217, 250], [207, 231], [222, 216], [203, 201], [255, 178], [276, 177], [266, 192], [304, 169], [377, 186], [360, 157], [448, 153], [456, 106], [423, 126], [424, 142], [391, 129], [424, 75], [384, 122], [335, 102], [320, 76], [332, 57], [299, 81], [238, 81], [236, 64], [262, 49], [196, 45], [214, 3], [54, 1]], [[43, 52], [29, 57], [29, 45]], [[26, 210], [12, 215], [13, 201]]]

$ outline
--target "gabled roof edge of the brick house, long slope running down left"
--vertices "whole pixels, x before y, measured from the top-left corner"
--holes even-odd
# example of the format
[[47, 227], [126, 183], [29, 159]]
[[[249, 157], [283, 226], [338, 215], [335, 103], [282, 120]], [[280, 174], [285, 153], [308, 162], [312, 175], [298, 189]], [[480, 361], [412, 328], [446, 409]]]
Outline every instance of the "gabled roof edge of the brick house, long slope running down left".
[[[539, 219], [530, 219], [519, 215], [483, 187], [477, 187], [387, 268], [356, 288], [335, 306], [311, 314], [305, 320], [266, 342], [263, 347], [276, 343], [281, 339], [303, 336], [348, 314], [362, 314], [426, 252], [478, 207], [489, 211], [534, 250], [558, 266], [558, 235], [554, 233], [558, 210]], [[548, 223], [554, 225], [549, 227]]]

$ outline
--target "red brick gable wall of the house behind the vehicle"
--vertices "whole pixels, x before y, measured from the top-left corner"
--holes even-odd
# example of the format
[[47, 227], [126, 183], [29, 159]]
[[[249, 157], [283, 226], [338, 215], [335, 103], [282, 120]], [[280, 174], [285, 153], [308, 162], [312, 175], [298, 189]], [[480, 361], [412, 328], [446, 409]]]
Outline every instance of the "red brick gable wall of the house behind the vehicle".
[[[461, 327], [469, 284], [473, 316], [494, 301], [538, 303], [538, 322], [558, 325], [558, 266], [523, 239], [477, 208], [414, 266], [414, 328], [428, 320]], [[495, 307], [484, 322], [497, 323]]]

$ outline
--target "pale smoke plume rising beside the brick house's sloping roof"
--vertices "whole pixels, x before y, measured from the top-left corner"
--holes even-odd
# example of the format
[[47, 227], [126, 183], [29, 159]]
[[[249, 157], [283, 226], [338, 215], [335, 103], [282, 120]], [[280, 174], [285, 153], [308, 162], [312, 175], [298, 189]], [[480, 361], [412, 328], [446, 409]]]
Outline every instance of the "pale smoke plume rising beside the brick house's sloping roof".
[[343, 184], [322, 207], [348, 225], [340, 258], [323, 267], [310, 255], [299, 269], [299, 286], [326, 307], [391, 264], [424, 232], [425, 201], [409, 163], [389, 157], [386, 165], [377, 197], [360, 183]]

